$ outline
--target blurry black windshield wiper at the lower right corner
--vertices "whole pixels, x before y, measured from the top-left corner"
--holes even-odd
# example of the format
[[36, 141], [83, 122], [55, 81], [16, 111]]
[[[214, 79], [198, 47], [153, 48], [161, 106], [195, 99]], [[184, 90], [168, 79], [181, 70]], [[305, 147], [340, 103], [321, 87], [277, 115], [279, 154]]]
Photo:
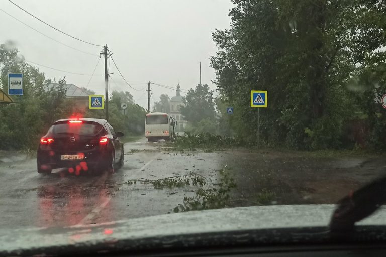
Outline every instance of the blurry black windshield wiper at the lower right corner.
[[350, 193], [338, 202], [330, 220], [330, 231], [353, 230], [355, 222], [370, 216], [385, 202], [386, 176], [383, 176]]

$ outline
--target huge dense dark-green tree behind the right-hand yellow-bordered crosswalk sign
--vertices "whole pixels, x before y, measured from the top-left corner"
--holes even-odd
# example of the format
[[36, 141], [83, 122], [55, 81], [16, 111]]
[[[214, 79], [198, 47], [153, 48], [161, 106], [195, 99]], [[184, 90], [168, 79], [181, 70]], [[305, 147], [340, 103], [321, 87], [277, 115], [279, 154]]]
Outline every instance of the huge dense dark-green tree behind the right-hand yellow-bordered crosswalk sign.
[[354, 73], [345, 12], [350, 1], [233, 1], [231, 29], [216, 30], [211, 58], [219, 92], [234, 103], [252, 138], [257, 110], [251, 90], [268, 90], [260, 132], [270, 144], [293, 148], [338, 147]]

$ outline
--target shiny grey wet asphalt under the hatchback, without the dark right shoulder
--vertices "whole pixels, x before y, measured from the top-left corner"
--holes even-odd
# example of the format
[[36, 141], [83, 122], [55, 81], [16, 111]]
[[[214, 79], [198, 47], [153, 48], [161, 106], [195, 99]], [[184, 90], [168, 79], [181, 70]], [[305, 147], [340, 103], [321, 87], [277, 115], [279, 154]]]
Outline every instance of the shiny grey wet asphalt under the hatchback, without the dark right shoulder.
[[[36, 158], [0, 163], [0, 227], [64, 227], [173, 212], [194, 188], [156, 189], [131, 179], [161, 179], [195, 172], [217, 180], [216, 153], [174, 153], [145, 138], [125, 144], [125, 164], [115, 174], [79, 176], [57, 169], [38, 174]], [[203, 157], [202, 155], [205, 155]]]

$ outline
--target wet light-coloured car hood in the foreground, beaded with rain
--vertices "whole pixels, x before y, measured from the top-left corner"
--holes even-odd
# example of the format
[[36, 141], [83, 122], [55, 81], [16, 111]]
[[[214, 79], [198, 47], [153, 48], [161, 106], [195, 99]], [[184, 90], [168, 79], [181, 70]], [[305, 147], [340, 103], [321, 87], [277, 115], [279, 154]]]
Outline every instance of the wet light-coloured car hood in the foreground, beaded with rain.
[[[165, 214], [129, 220], [70, 227], [0, 230], [0, 253], [21, 253], [26, 249], [68, 247], [104, 243], [114, 247], [121, 240], [162, 242], [167, 236], [254, 229], [325, 227], [334, 205], [280, 205], [225, 208]], [[358, 225], [385, 225], [386, 208]]]

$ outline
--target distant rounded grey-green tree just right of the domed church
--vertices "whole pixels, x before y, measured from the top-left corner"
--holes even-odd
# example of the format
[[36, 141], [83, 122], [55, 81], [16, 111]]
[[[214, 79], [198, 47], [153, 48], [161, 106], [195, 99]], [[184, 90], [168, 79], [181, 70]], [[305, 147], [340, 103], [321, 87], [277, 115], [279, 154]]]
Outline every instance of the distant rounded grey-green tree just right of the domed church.
[[214, 121], [215, 103], [213, 93], [208, 85], [197, 85], [195, 89], [189, 89], [183, 98], [185, 106], [181, 106], [181, 114], [191, 125], [196, 126], [202, 119]]

